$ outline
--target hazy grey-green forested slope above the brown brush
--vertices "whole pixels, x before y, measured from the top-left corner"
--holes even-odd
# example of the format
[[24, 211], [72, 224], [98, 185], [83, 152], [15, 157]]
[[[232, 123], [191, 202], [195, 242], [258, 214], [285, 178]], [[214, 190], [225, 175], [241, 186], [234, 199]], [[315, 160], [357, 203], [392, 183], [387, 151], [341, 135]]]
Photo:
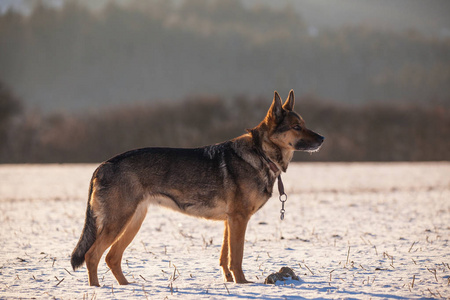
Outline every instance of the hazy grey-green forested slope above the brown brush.
[[32, 107], [90, 109], [278, 90], [340, 103], [450, 103], [450, 39], [347, 26], [239, 0], [66, 1], [0, 16], [0, 80]]

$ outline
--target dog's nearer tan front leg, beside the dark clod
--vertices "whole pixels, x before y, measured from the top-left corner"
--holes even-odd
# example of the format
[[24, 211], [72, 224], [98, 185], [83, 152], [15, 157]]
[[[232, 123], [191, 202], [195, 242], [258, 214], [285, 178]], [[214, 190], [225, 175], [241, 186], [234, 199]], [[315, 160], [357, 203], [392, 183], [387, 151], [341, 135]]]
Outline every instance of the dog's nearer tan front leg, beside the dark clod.
[[248, 217], [242, 215], [229, 216], [228, 225], [228, 249], [229, 269], [236, 283], [249, 283], [242, 271], [242, 258], [244, 256], [245, 230]]

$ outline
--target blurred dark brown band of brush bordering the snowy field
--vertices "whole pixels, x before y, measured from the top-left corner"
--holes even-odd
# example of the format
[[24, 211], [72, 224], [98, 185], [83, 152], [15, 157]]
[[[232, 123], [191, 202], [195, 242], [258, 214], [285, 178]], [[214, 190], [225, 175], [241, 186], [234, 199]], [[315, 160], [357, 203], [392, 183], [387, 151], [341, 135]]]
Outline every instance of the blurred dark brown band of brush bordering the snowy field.
[[[42, 114], [22, 109], [20, 99], [0, 84], [0, 163], [100, 162], [134, 148], [213, 144], [258, 125], [271, 101], [199, 96]], [[450, 109], [444, 106], [346, 106], [305, 96], [297, 97], [296, 111], [326, 138], [318, 153], [297, 153], [297, 161], [450, 159]]]

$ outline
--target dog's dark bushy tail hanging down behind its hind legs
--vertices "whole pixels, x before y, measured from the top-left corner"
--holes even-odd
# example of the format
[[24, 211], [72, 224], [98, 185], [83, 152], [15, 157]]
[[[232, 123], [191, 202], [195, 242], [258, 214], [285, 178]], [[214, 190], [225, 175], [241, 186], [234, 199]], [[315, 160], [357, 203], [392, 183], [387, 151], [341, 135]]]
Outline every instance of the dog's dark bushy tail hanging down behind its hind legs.
[[89, 198], [87, 203], [86, 221], [84, 223], [84, 228], [81, 233], [80, 239], [78, 240], [78, 244], [75, 246], [75, 249], [73, 249], [72, 257], [70, 259], [74, 271], [83, 265], [86, 252], [88, 252], [88, 250], [94, 244], [97, 237], [97, 226], [95, 223], [94, 212], [92, 211], [92, 207], [90, 204], [93, 190], [93, 181], [94, 180], [92, 179], [89, 186]]

